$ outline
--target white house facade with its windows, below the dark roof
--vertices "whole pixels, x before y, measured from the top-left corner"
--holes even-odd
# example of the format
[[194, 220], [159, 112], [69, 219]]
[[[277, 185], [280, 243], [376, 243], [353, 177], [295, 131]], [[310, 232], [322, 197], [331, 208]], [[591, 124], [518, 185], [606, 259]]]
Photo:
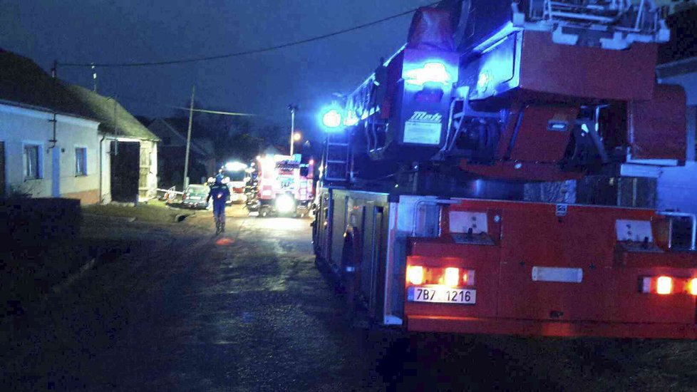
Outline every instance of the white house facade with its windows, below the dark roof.
[[[56, 143], [53, 139], [55, 124]], [[99, 201], [98, 121], [0, 101], [4, 192]]]

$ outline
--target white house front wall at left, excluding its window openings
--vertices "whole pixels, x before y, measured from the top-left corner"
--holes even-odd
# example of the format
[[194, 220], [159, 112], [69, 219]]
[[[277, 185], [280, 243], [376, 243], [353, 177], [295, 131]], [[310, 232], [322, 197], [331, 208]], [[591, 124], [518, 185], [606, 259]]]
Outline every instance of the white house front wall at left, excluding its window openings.
[[[51, 113], [0, 104], [0, 141], [5, 143], [6, 192], [10, 187], [19, 187], [33, 197], [51, 197], [53, 177], [52, 151], [48, 150], [53, 138]], [[98, 182], [98, 136], [99, 123], [93, 120], [56, 116], [56, 147], [60, 155], [61, 195], [96, 190]], [[38, 180], [24, 180], [24, 145], [41, 146]], [[76, 177], [75, 148], [87, 148], [87, 176]]]

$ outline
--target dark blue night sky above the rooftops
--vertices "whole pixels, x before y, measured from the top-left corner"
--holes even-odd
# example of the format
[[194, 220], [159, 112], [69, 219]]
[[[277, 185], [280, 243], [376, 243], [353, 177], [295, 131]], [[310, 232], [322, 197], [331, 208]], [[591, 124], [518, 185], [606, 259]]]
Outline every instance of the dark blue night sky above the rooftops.
[[[0, 48], [47, 71], [77, 63], [165, 61], [297, 41], [399, 14], [433, 0], [0, 0]], [[196, 84], [204, 108], [256, 113], [317, 139], [316, 113], [349, 93], [405, 41], [411, 15], [269, 53], [200, 63], [98, 68], [98, 93], [117, 94], [131, 113], [170, 116]], [[92, 87], [89, 68], [58, 77]], [[180, 113], [177, 113], [180, 114]], [[310, 136], [307, 133], [307, 136]]]

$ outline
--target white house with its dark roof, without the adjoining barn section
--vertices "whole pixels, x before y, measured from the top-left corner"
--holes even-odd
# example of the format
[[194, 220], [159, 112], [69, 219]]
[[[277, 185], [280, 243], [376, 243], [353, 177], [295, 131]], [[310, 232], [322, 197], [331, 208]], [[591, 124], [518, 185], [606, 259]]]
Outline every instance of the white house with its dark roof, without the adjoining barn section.
[[0, 51], [0, 193], [100, 200], [99, 122], [28, 58]]

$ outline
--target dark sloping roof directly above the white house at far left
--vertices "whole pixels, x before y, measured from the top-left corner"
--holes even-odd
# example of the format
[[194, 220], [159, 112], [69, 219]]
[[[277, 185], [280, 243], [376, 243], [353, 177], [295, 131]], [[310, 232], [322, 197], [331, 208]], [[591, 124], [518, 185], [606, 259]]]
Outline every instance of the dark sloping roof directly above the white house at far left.
[[38, 110], [94, 118], [68, 90], [29, 58], [0, 49], [0, 100]]

